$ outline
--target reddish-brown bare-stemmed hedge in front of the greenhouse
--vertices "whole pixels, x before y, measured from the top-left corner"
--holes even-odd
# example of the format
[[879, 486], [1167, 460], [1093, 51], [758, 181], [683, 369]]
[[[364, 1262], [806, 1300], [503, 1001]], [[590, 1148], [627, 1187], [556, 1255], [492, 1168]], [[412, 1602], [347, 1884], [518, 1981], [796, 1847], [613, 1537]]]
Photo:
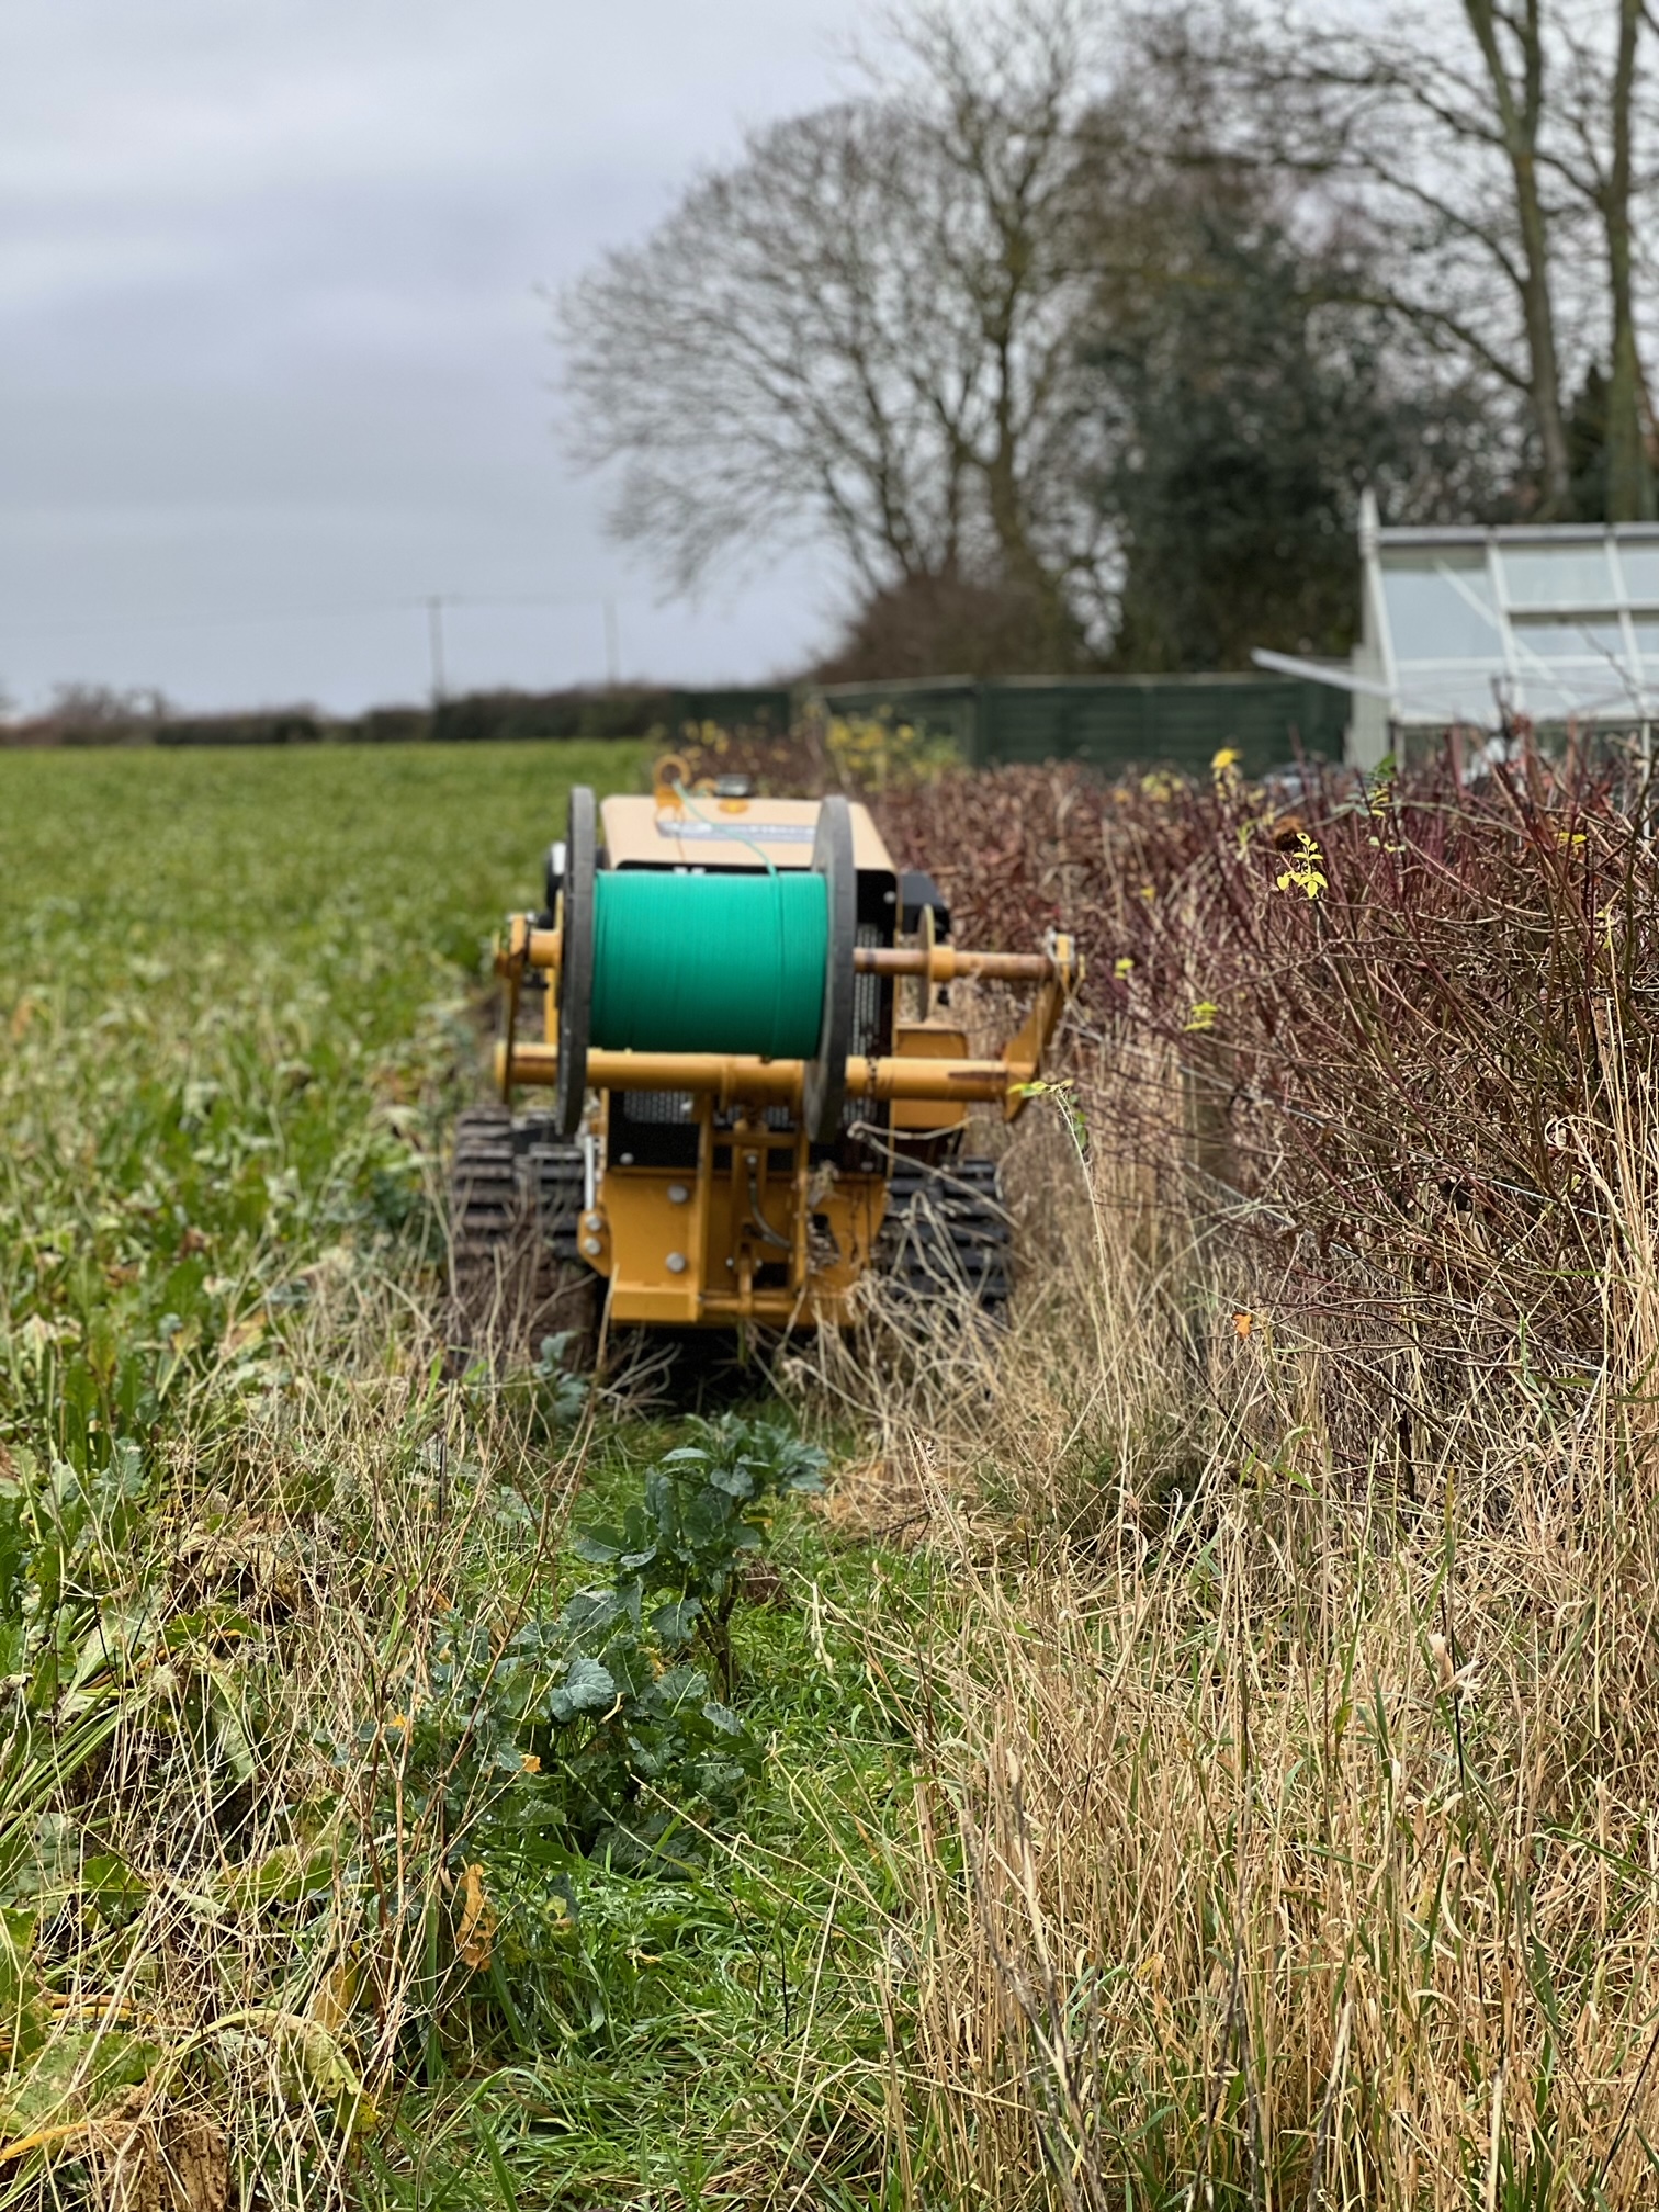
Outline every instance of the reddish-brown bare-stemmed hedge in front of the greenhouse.
[[1210, 783], [958, 774], [885, 823], [964, 942], [1077, 931], [1093, 1144], [1179, 1159], [1234, 1281], [1336, 1354], [1332, 1429], [1363, 1455], [1385, 1438], [1411, 1480], [1495, 1394], [1559, 1429], [1615, 1352], [1652, 1387], [1644, 790], [1528, 752], [1274, 796], [1223, 757]]

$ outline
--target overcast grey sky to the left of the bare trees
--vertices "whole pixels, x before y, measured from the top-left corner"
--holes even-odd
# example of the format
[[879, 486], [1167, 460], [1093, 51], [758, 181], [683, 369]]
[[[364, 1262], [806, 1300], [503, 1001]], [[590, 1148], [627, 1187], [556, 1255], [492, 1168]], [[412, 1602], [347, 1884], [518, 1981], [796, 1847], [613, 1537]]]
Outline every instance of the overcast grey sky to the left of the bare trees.
[[827, 562], [701, 608], [606, 542], [538, 288], [745, 122], [845, 84], [863, 0], [4, 0], [0, 688], [190, 706], [763, 677]]

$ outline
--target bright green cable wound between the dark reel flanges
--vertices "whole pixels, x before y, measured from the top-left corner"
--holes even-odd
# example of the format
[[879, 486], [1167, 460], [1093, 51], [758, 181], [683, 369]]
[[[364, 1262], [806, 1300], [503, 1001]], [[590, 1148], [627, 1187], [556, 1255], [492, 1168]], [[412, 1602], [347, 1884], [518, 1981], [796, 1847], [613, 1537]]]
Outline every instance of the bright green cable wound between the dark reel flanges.
[[805, 869], [593, 883], [593, 1026], [604, 1051], [812, 1060], [830, 891]]

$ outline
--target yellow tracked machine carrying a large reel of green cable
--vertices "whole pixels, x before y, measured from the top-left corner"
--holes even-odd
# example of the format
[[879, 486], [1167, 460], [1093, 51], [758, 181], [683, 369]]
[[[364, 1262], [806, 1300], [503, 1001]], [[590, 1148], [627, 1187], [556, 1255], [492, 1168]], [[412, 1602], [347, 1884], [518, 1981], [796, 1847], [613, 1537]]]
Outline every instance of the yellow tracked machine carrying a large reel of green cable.
[[[462, 1292], [535, 1254], [535, 1310], [586, 1327], [847, 1323], [880, 1270], [914, 1296], [1009, 1296], [995, 1164], [962, 1152], [969, 1106], [1015, 1119], [1077, 951], [949, 942], [929, 876], [900, 872], [863, 805], [757, 799], [741, 779], [571, 794], [540, 914], [495, 958], [502, 1106], [460, 1119]], [[993, 1060], [951, 984], [1022, 984]], [[551, 1110], [513, 1110], [520, 1091]]]

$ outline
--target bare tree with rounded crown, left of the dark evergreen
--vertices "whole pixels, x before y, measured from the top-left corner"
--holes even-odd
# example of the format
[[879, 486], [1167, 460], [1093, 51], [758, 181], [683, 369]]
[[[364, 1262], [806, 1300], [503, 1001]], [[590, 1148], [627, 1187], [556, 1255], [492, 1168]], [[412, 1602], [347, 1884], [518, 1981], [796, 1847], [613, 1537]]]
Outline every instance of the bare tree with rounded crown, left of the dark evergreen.
[[1088, 619], [1091, 0], [909, 9], [869, 93], [750, 135], [562, 301], [577, 451], [679, 588], [830, 533], [865, 591]]

